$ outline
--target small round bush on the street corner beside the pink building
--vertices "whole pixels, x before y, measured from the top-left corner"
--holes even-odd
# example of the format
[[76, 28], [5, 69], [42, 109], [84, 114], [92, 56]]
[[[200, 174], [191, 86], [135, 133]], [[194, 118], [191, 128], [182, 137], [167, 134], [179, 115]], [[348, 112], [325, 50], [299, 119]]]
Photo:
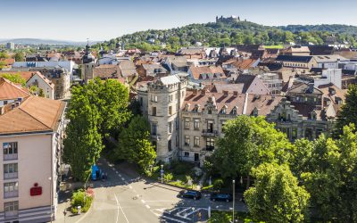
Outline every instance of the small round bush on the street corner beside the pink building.
[[[71, 198], [71, 211], [72, 213], [77, 213], [77, 207], [81, 207], [82, 212], [87, 212], [90, 205], [93, 202], [93, 190], [88, 189], [88, 193], [85, 193], [83, 189], [79, 189], [77, 192], [72, 194]], [[86, 199], [85, 199], [86, 195]]]

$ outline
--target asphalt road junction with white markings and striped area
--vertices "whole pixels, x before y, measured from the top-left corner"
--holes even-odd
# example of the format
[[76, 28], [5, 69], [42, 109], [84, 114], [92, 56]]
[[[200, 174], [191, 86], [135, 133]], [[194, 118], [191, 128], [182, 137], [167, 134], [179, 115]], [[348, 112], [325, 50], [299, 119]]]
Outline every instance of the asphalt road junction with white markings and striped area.
[[[179, 198], [178, 188], [146, 182], [128, 167], [113, 166], [104, 160], [98, 166], [108, 179], [92, 183], [93, 206], [80, 223], [205, 222], [209, 206], [231, 210], [232, 202], [211, 202], [208, 194], [198, 201]], [[235, 209], [242, 211], [245, 206], [237, 202]]]

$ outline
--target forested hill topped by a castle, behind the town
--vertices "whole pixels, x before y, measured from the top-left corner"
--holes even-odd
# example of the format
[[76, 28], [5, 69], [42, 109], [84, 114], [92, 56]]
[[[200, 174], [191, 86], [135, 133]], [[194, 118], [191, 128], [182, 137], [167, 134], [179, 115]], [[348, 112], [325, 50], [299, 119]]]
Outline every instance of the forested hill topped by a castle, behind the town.
[[237, 18], [220, 18], [216, 22], [191, 24], [180, 28], [135, 32], [93, 45], [104, 50], [137, 47], [144, 51], [162, 49], [176, 51], [181, 46], [195, 45], [197, 42], [208, 46], [264, 44], [284, 45], [327, 44], [334, 42], [351, 45], [357, 43], [357, 27], [345, 25], [290, 25], [286, 27], [263, 26], [251, 21], [238, 21]]

